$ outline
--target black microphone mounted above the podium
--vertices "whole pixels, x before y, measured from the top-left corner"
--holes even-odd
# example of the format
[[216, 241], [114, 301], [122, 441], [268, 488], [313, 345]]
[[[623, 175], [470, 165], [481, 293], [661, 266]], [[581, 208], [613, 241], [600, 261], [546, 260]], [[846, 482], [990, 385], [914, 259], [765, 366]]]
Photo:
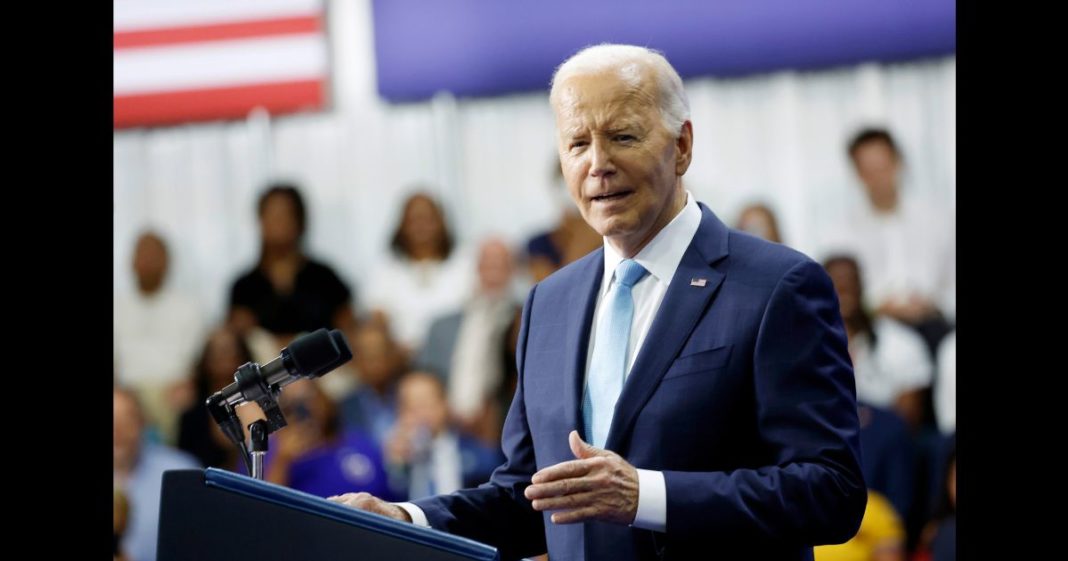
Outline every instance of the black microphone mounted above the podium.
[[249, 402], [260, 404], [267, 417], [268, 433], [285, 426], [278, 406], [282, 388], [300, 378], [317, 378], [348, 362], [352, 350], [337, 329], [317, 329], [282, 349], [279, 357], [260, 365], [246, 362], [234, 374], [234, 383], [207, 399], [207, 408], [222, 432], [244, 448], [245, 432], [235, 408]]

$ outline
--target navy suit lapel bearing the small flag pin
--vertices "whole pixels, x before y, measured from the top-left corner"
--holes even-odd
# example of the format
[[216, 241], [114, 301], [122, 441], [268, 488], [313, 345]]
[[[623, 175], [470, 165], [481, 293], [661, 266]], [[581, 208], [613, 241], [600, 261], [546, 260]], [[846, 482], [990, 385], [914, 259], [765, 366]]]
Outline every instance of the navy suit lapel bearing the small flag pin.
[[[675, 270], [675, 277], [668, 286], [668, 293], [660, 302], [660, 309], [615, 404], [606, 442], [606, 448], [615, 452], [623, 453], [621, 446], [630, 434], [634, 419], [653, 395], [660, 378], [668, 372], [723, 282], [724, 275], [710, 264], [726, 256], [728, 231], [711, 211], [705, 205], [701, 207], [702, 219], [697, 233], [682, 254], [682, 261]], [[704, 282], [700, 279], [704, 279]], [[697, 285], [692, 284], [692, 280], [697, 280]]]

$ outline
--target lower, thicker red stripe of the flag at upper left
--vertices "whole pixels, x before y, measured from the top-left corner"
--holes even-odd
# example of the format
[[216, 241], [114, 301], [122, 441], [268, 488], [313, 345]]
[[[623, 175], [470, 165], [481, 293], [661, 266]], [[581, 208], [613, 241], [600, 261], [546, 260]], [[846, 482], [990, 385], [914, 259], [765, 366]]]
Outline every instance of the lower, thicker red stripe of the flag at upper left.
[[244, 119], [254, 107], [263, 107], [271, 113], [318, 109], [324, 105], [323, 88], [323, 80], [301, 80], [116, 95], [113, 103], [114, 127]]

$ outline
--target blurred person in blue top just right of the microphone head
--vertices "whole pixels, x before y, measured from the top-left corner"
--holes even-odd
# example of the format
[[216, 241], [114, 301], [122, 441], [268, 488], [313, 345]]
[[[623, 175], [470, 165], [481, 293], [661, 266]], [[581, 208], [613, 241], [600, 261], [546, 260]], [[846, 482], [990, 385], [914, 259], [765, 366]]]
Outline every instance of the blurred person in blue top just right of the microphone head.
[[408, 361], [389, 328], [378, 321], [362, 323], [349, 343], [360, 385], [340, 403], [342, 424], [382, 445], [396, 421], [396, 383]]

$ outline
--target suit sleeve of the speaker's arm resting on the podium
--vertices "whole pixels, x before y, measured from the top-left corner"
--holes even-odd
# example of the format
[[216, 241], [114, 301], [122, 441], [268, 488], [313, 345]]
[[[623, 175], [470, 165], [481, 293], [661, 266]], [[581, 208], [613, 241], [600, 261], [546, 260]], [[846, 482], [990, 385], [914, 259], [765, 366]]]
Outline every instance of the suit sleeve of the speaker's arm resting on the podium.
[[523, 497], [523, 490], [537, 470], [523, 401], [523, 358], [536, 289], [536, 285], [531, 289], [523, 306], [516, 345], [519, 379], [501, 436], [504, 464], [493, 471], [488, 483], [476, 488], [412, 501], [426, 514], [430, 527], [492, 545], [500, 550], [502, 560], [546, 550], [543, 514], [532, 509]]

